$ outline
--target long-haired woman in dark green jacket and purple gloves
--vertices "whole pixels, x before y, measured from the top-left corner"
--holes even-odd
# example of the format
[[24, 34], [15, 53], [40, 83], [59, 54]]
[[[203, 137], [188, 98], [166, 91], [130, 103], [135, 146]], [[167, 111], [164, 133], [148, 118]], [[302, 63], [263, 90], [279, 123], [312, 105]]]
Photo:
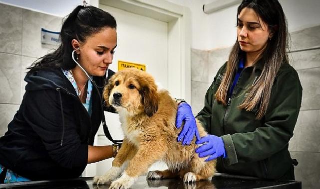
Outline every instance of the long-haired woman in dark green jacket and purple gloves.
[[[278, 0], [243, 0], [237, 12], [237, 41], [218, 71], [196, 116], [209, 135], [196, 141], [217, 171], [266, 179], [294, 180], [288, 146], [301, 106], [302, 87], [289, 65], [286, 18]], [[191, 107], [181, 103], [178, 137], [192, 140]], [[188, 123], [187, 123], [188, 122]], [[189, 132], [187, 132], [189, 131]]]

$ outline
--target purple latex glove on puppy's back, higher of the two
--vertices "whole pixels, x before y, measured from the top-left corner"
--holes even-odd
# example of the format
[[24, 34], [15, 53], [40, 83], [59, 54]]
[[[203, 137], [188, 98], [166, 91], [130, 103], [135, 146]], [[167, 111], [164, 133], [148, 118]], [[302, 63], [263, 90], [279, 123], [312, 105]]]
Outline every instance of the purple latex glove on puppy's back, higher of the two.
[[184, 121], [184, 126], [178, 135], [178, 142], [182, 141], [182, 145], [190, 144], [194, 135], [196, 135], [197, 140], [200, 140], [199, 131], [196, 124], [196, 118], [192, 114], [191, 106], [182, 102], [178, 106], [178, 112], [176, 117], [176, 127], [179, 129], [181, 127], [182, 121]]

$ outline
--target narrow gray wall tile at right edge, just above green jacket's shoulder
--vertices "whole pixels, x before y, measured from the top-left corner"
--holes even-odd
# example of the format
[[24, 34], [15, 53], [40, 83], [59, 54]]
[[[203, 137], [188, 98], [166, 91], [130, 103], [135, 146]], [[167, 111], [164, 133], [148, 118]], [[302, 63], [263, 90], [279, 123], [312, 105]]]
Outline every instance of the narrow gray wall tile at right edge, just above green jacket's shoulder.
[[289, 57], [296, 70], [320, 67], [320, 49], [294, 52]]

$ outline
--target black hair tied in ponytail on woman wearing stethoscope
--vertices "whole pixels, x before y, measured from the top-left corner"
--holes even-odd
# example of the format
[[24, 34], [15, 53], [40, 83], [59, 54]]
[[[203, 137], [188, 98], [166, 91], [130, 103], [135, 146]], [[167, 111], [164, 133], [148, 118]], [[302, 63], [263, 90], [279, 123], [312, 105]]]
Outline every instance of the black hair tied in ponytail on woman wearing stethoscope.
[[110, 13], [94, 6], [78, 5], [62, 22], [59, 47], [54, 52], [36, 60], [28, 68], [29, 72], [42, 68], [62, 68], [65, 70], [74, 68], [76, 64], [71, 57], [72, 39], [85, 42], [88, 37], [106, 27], [117, 27], [115, 18]]

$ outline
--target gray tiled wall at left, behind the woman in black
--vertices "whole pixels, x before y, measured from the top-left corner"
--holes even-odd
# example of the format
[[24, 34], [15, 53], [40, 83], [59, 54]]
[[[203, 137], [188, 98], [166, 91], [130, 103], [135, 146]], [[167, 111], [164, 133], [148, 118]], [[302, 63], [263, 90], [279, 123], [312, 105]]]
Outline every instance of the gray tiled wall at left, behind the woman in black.
[[41, 28], [59, 31], [61, 17], [0, 3], [0, 136], [24, 94], [26, 67], [56, 46], [40, 42]]

